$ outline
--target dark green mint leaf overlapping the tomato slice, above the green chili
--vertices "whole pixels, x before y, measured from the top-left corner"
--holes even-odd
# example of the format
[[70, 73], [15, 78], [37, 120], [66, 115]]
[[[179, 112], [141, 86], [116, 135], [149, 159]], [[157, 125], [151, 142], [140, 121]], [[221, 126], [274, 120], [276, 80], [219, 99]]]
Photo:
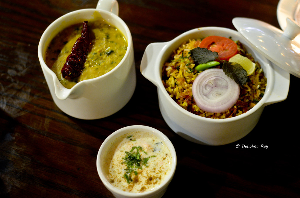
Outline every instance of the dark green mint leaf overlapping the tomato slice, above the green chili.
[[199, 48], [196, 47], [190, 50], [190, 56], [192, 57], [194, 62], [198, 64], [207, 63], [218, 58], [217, 52], [212, 52], [207, 48]]

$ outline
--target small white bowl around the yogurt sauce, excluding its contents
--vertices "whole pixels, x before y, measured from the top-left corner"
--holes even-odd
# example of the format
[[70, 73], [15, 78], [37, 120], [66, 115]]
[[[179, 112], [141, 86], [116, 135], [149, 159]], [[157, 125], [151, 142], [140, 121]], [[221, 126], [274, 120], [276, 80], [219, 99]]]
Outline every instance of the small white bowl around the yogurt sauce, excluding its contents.
[[[112, 144], [118, 139], [120, 136], [130, 133], [130, 132], [136, 132], [136, 131], [141, 131], [141, 132], [150, 132], [151, 134], [154, 134], [157, 136], [161, 141], [163, 141], [167, 147], [170, 150], [171, 156], [172, 156], [172, 167], [170, 170], [169, 175], [166, 177], [166, 179], [158, 186], [156, 186], [154, 189], [151, 191], [146, 191], [142, 193], [131, 193], [131, 192], [125, 192], [122, 191], [115, 186], [113, 186], [107, 174], [104, 172], [104, 159], [105, 155], [107, 153], [107, 150], [110, 148]], [[147, 127], [147, 126], [142, 126], [142, 125], [134, 125], [134, 126], [128, 126], [124, 127], [122, 129], [119, 129], [115, 132], [113, 132], [110, 136], [108, 136], [104, 142], [102, 143], [98, 155], [97, 155], [97, 171], [99, 174], [99, 177], [105, 187], [117, 198], [128, 198], [128, 197], [143, 197], [143, 198], [159, 198], [164, 195], [164, 193], [167, 190], [168, 185], [170, 184], [171, 180], [173, 179], [175, 169], [176, 169], [176, 164], [177, 164], [177, 157], [176, 157], [176, 152], [173, 144], [171, 141], [167, 138], [166, 135], [164, 135], [162, 132], [152, 128], [152, 127]]]

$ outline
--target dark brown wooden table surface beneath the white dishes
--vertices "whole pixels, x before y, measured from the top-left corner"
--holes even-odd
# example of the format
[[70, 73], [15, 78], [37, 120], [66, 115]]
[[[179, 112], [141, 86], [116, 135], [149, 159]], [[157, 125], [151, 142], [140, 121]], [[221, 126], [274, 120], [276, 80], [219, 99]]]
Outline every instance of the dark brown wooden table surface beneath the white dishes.
[[[193, 28], [235, 29], [234, 17], [260, 19], [279, 28], [278, 0], [120, 0], [119, 16], [133, 37], [137, 87], [114, 115], [80, 120], [53, 102], [38, 60], [38, 43], [59, 16], [96, 4], [97, 0], [0, 1], [0, 197], [113, 197], [98, 176], [97, 152], [108, 135], [129, 125], [160, 130], [176, 149], [176, 173], [164, 197], [300, 196], [299, 78], [291, 75], [287, 99], [266, 106], [246, 137], [205, 146], [168, 127], [157, 89], [139, 69], [148, 44], [169, 41]], [[236, 148], [237, 144], [268, 148]]]

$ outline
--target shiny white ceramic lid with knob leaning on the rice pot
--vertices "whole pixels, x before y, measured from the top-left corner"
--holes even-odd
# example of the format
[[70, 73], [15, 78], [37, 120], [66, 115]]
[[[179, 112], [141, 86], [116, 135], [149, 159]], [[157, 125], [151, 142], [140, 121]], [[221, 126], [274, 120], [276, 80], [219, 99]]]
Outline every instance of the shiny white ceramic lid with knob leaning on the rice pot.
[[286, 19], [284, 32], [266, 22], [236, 17], [234, 27], [245, 40], [275, 65], [300, 78], [300, 26]]

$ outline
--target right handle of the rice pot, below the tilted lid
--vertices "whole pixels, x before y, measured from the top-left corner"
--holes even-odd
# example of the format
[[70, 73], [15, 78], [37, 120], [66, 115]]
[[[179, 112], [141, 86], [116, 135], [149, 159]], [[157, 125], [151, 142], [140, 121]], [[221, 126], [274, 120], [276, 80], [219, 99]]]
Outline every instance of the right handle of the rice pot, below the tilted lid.
[[272, 66], [274, 69], [274, 86], [271, 88], [271, 95], [265, 102], [264, 106], [285, 100], [289, 93], [289, 72], [274, 65], [273, 63]]

